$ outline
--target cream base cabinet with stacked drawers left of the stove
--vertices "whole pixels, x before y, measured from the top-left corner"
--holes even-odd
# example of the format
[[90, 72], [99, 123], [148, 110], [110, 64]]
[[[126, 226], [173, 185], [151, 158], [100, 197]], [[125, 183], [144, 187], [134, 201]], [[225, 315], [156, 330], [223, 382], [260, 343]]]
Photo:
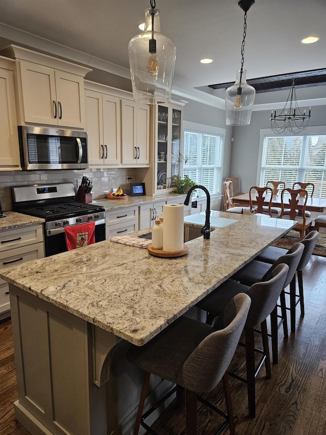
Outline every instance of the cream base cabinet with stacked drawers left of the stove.
[[[0, 233], [0, 269], [44, 257], [42, 225], [32, 225]], [[10, 310], [9, 286], [0, 278], [0, 319]]]

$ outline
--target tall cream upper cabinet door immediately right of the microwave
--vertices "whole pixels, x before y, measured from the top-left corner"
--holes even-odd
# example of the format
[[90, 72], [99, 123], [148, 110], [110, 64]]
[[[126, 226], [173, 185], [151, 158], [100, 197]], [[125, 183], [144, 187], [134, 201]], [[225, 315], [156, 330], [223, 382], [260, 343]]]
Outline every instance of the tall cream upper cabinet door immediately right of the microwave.
[[85, 91], [86, 131], [90, 165], [104, 163], [102, 94]]

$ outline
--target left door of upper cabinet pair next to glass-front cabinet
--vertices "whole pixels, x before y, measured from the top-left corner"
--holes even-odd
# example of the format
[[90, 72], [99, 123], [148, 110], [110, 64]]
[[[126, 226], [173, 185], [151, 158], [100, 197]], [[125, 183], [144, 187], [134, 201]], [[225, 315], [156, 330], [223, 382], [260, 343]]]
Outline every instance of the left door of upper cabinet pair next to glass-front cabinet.
[[121, 132], [122, 132], [122, 163], [135, 165], [137, 163], [137, 137], [135, 128], [135, 101], [122, 100], [121, 102]]

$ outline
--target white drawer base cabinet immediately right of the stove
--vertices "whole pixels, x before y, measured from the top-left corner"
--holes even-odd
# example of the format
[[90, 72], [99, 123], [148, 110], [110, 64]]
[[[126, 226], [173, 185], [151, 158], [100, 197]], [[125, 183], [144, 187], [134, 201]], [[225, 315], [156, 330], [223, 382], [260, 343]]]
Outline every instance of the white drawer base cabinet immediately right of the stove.
[[138, 231], [138, 206], [105, 212], [105, 239]]

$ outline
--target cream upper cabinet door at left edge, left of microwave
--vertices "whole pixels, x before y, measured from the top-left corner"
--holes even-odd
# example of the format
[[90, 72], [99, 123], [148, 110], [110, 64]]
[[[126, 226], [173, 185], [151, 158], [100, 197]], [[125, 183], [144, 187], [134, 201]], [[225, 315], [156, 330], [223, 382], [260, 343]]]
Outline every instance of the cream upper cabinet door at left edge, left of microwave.
[[21, 169], [13, 72], [0, 68], [0, 170]]

